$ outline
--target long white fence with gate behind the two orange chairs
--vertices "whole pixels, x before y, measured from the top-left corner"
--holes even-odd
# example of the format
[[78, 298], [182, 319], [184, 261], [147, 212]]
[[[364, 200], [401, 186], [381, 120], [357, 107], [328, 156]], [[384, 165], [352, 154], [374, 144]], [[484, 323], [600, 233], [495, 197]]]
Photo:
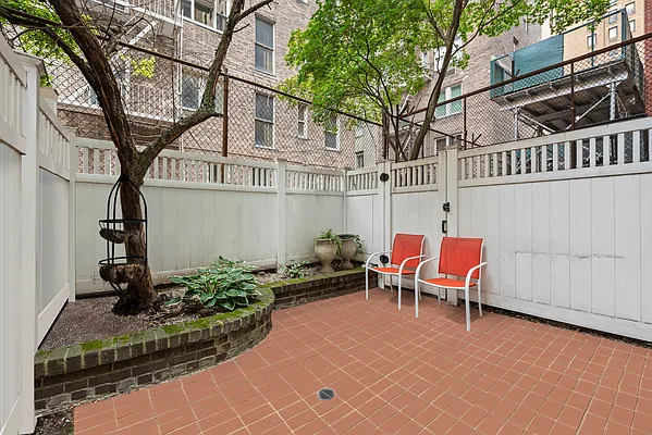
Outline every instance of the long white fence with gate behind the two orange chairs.
[[641, 119], [348, 172], [346, 232], [368, 253], [426, 234], [429, 257], [443, 229], [483, 237], [484, 302], [652, 340], [651, 144]]

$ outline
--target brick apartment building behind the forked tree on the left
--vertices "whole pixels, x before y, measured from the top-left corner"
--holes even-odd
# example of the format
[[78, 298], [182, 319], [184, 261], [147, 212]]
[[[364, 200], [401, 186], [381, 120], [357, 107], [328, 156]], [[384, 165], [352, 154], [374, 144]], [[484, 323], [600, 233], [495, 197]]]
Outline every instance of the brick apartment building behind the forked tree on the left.
[[[90, 3], [97, 16], [133, 23], [146, 17], [127, 35], [131, 44], [208, 66], [229, 14], [227, 0], [115, 0]], [[317, 10], [315, 0], [275, 0], [238, 25], [224, 67], [229, 75], [275, 88], [294, 73], [285, 65], [287, 42], [294, 29], [305, 27]], [[118, 11], [118, 13], [116, 13]], [[146, 144], [175, 119], [196, 109], [206, 72], [190, 65], [122, 49], [113, 57], [114, 73], [132, 117], [138, 142]], [[59, 114], [84, 137], [108, 139], [97, 98], [67, 64], [51, 66], [59, 92]], [[223, 108], [223, 84], [216, 107]], [[354, 123], [335, 116], [324, 125], [310, 119], [309, 108], [246, 82], [229, 83], [229, 156], [275, 160], [330, 167], [355, 164]], [[186, 132], [175, 149], [219, 154], [222, 117]], [[371, 159], [373, 163], [374, 159]], [[370, 160], [370, 162], [371, 162]]]

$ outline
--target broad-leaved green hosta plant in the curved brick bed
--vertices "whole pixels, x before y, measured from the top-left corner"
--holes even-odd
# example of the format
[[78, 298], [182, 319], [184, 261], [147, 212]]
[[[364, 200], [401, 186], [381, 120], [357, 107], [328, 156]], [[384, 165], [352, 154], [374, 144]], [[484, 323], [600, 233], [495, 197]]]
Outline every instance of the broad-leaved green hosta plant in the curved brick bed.
[[186, 291], [181, 298], [170, 299], [165, 306], [198, 300], [205, 308], [217, 306], [229, 311], [247, 307], [250, 299], [260, 296], [256, 289], [258, 282], [251, 274], [254, 269], [220, 256], [211, 268], [198, 269], [196, 275], [172, 276], [170, 281], [184, 286]]

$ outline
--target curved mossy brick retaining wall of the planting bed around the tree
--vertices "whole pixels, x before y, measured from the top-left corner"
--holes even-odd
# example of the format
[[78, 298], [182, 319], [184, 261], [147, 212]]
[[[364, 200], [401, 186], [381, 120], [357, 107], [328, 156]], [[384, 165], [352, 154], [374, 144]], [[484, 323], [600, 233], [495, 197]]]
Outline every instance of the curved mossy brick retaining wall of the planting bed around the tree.
[[36, 411], [126, 393], [250, 349], [272, 327], [273, 291], [263, 286], [260, 293], [249, 307], [233, 312], [37, 352]]

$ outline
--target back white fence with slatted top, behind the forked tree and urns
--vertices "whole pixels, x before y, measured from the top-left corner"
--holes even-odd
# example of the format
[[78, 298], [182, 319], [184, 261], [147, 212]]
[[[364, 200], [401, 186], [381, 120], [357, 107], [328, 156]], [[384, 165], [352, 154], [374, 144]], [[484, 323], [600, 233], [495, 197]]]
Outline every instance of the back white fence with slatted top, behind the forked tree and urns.
[[[111, 142], [77, 139], [77, 293], [110, 287], [98, 260], [98, 221], [120, 167]], [[285, 179], [285, 183], [279, 183]], [[344, 172], [163, 151], [145, 181], [148, 257], [156, 283], [219, 256], [259, 266], [313, 257], [312, 239], [344, 228]]]

